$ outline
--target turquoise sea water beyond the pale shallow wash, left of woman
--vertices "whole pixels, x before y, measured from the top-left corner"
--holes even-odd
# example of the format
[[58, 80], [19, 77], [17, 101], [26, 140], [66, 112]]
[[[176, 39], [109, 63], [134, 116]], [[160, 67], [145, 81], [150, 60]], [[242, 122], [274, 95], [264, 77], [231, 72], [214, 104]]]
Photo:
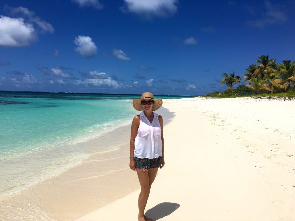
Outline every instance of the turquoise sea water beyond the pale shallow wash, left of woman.
[[79, 142], [82, 136], [130, 120], [136, 112], [126, 100], [10, 100], [26, 104], [0, 106], [0, 159], [69, 140]]

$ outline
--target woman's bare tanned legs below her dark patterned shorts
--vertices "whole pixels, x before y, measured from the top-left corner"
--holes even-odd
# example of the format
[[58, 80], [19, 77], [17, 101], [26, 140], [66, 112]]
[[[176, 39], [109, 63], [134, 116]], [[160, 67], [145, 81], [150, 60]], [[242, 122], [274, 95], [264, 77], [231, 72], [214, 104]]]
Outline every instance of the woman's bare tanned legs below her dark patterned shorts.
[[144, 211], [148, 202], [150, 187], [156, 178], [158, 169], [149, 171], [137, 171], [141, 191], [138, 196], [138, 221], [146, 221]]

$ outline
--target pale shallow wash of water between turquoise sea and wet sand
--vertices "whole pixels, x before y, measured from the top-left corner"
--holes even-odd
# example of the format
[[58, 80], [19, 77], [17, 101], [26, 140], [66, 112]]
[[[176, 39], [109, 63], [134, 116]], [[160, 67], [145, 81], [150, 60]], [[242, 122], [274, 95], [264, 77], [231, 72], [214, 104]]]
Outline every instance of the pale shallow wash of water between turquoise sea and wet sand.
[[[130, 121], [130, 120], [129, 120]], [[92, 140], [100, 139], [106, 134], [112, 133], [120, 127], [125, 127], [130, 124], [127, 120], [114, 121], [116, 126], [107, 127], [104, 130], [96, 131], [89, 135], [79, 134], [72, 139], [66, 139], [59, 144], [52, 146], [46, 146], [45, 148], [33, 148], [26, 150], [26, 152], [15, 153], [8, 158], [0, 161], [1, 171], [5, 181], [9, 182], [6, 186], [1, 185], [0, 199], [4, 199], [13, 194], [20, 193], [26, 190], [30, 186], [36, 185], [39, 182], [50, 179], [51, 177], [58, 176], [63, 172], [77, 166], [87, 159], [91, 154], [95, 152], [103, 152], [106, 150], [112, 150], [112, 145], [92, 145], [90, 148], [88, 144]], [[111, 124], [111, 123], [110, 123]], [[21, 161], [21, 163], [19, 163]], [[5, 174], [5, 171], [10, 171], [11, 168], [18, 171], [18, 174], [26, 174], [22, 177], [24, 181], [13, 180], [17, 178], [15, 174], [9, 172]], [[13, 183], [12, 181], [15, 181]], [[19, 186], [16, 186], [20, 184]], [[5, 191], [3, 191], [5, 190]]]

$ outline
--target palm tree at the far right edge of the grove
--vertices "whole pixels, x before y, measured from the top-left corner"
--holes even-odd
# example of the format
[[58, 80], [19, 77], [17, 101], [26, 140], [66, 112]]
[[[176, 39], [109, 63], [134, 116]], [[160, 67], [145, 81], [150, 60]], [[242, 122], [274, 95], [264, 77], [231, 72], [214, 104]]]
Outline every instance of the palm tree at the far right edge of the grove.
[[283, 64], [278, 65], [278, 73], [285, 92], [291, 85], [295, 85], [295, 61], [283, 60]]

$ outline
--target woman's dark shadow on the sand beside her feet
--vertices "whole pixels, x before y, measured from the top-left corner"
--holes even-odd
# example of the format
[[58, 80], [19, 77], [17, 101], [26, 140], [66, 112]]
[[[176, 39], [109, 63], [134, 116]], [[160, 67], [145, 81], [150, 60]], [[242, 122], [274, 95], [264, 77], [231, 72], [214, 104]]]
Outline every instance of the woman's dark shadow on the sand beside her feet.
[[155, 207], [149, 209], [145, 215], [149, 218], [151, 218], [153, 221], [156, 221], [158, 219], [161, 219], [163, 217], [166, 217], [173, 213], [175, 210], [177, 210], [180, 207], [178, 203], [160, 203], [156, 205]]

